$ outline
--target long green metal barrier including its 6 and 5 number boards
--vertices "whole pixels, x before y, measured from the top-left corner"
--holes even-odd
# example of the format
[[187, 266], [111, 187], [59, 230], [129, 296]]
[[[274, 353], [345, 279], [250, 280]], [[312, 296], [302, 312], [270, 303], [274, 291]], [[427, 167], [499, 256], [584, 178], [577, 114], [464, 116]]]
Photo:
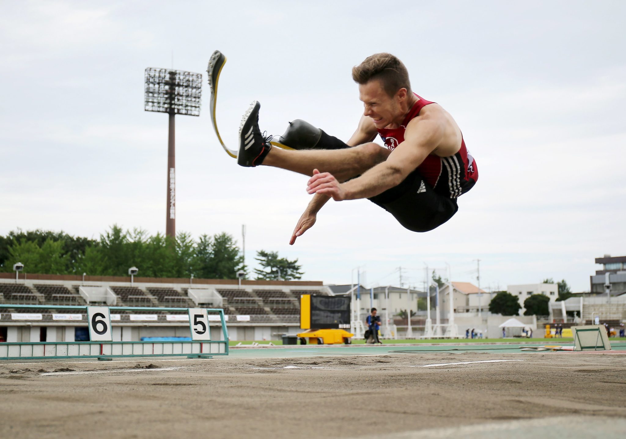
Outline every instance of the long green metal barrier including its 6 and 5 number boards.
[[[24, 341], [0, 343], [0, 360], [58, 360], [63, 358], [98, 358], [111, 360], [124, 357], [187, 356], [212, 358], [228, 355], [228, 329], [221, 308], [154, 308], [140, 306], [55, 306], [0, 305], [7, 310], [83, 310], [87, 314], [90, 341]], [[113, 341], [111, 311], [183, 311], [189, 316], [192, 340], [188, 341]], [[211, 340], [209, 312], [217, 312], [222, 326], [222, 339]], [[216, 321], [217, 323], [217, 321]], [[42, 325], [44, 326], [44, 325]]]

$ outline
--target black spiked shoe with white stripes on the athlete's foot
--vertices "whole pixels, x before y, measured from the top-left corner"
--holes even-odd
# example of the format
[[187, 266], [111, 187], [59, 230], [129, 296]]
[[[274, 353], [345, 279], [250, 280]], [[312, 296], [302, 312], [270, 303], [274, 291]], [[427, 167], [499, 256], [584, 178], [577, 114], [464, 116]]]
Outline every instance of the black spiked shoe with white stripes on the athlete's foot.
[[241, 166], [259, 166], [272, 149], [272, 136], [267, 132], [261, 134], [259, 129], [259, 109], [261, 104], [252, 101], [250, 108], [245, 112], [239, 127], [239, 154], [237, 163]]

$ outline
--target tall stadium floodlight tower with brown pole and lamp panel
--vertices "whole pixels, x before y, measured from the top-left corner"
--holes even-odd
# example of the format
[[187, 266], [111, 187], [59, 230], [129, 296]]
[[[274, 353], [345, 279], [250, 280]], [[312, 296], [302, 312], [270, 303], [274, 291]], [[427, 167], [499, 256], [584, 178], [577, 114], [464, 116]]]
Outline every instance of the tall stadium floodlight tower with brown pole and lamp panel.
[[174, 116], [200, 116], [202, 73], [146, 68], [144, 88], [145, 111], [167, 113], [167, 210], [165, 235], [176, 235], [176, 165], [174, 154]]

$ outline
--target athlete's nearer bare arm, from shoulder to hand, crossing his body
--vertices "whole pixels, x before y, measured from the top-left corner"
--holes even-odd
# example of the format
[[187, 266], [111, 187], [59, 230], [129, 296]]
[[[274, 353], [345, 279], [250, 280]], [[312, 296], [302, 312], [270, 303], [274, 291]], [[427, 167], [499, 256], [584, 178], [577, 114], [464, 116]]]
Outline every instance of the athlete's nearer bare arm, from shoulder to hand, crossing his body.
[[346, 183], [340, 183], [329, 173], [315, 174], [309, 179], [307, 192], [341, 201], [370, 198], [398, 186], [439, 146], [444, 128], [443, 118], [413, 119], [406, 127], [403, 143], [389, 154], [386, 161]]

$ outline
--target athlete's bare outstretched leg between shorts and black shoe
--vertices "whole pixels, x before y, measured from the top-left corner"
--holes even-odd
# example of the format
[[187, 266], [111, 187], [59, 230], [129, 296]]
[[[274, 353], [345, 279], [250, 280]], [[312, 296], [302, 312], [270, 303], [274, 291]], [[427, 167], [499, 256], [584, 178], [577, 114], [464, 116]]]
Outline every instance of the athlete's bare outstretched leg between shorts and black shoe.
[[300, 151], [272, 148], [263, 163], [265, 166], [287, 169], [300, 174], [313, 174], [313, 169], [329, 172], [339, 181], [345, 181], [367, 171], [389, 156], [390, 151], [376, 143], [364, 143], [345, 149], [304, 149]]

